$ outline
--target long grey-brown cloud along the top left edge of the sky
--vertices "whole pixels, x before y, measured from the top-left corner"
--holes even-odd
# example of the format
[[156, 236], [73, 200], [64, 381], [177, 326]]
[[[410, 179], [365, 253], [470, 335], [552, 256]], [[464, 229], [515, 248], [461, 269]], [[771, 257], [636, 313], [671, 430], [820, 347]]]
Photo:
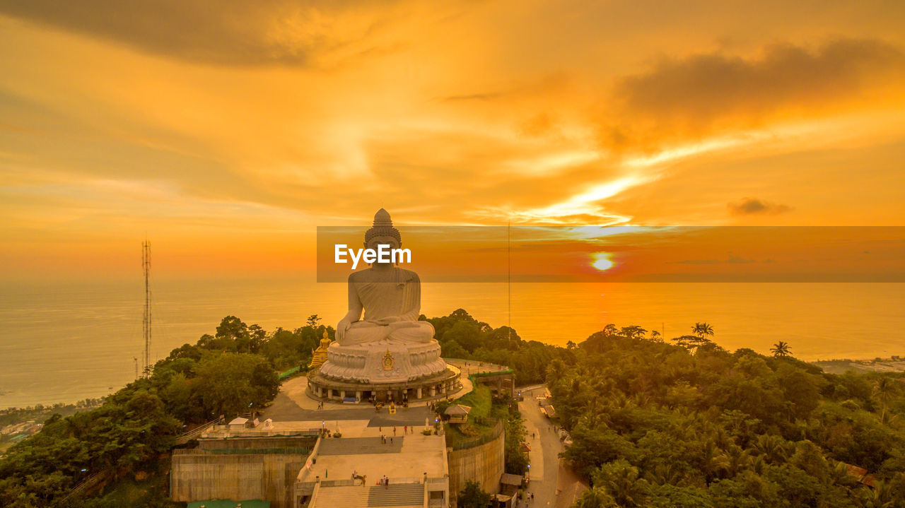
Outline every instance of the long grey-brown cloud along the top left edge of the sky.
[[398, 15], [394, 6], [367, 0], [0, 0], [0, 14], [185, 61], [312, 65], [325, 54], [380, 51], [373, 37]]

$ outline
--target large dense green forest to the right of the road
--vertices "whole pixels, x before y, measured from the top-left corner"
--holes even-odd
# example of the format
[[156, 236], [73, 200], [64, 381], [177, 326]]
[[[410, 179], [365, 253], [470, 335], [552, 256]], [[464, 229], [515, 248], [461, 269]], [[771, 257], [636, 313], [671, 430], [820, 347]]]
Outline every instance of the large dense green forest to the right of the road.
[[787, 347], [729, 353], [712, 329], [682, 345], [623, 331], [548, 368], [564, 456], [593, 485], [577, 506], [905, 506], [901, 374], [828, 374]]

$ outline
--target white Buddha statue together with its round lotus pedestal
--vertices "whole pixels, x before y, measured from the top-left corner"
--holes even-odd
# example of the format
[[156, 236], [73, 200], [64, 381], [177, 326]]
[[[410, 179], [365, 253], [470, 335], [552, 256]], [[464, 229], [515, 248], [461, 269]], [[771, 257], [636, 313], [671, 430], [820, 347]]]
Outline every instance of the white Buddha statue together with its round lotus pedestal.
[[[365, 247], [402, 248], [390, 214], [380, 209]], [[320, 373], [367, 383], [414, 381], [446, 370], [433, 325], [418, 321], [421, 280], [414, 271], [375, 262], [348, 277], [348, 313], [337, 325]], [[363, 315], [364, 314], [364, 315]]]

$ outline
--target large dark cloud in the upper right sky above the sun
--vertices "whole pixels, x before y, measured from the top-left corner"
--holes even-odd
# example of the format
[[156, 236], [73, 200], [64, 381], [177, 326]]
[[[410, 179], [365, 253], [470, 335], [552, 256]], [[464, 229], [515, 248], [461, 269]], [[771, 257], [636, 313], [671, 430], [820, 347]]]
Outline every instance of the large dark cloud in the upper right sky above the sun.
[[775, 120], [814, 118], [860, 100], [900, 94], [905, 52], [888, 42], [838, 39], [815, 51], [767, 46], [757, 57], [722, 52], [663, 59], [616, 80], [601, 112], [601, 141], [652, 151]]

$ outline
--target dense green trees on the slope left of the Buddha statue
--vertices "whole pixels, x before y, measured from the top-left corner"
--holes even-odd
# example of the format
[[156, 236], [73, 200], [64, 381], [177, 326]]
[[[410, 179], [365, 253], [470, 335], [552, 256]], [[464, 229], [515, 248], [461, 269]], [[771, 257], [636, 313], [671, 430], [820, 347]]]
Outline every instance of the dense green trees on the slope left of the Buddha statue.
[[274, 369], [310, 358], [318, 334], [332, 333], [317, 321], [266, 334], [226, 316], [214, 335], [176, 348], [99, 408], [54, 414], [0, 460], [0, 505], [52, 505], [89, 475], [115, 479], [147, 468], [194, 424], [262, 409], [279, 390]]

